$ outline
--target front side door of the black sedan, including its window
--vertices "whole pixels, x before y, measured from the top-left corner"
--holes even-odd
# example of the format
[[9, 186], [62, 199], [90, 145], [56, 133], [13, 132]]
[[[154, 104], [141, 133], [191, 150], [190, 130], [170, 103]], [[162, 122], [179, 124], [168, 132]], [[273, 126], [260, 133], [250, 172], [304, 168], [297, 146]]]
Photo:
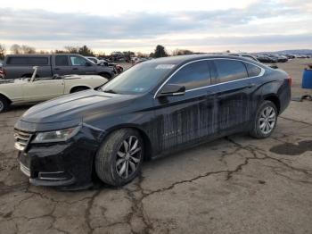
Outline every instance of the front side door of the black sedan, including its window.
[[[163, 96], [154, 100], [160, 149], [193, 143], [214, 132], [214, 98], [208, 93], [211, 84], [209, 62], [186, 64], [167, 84], [185, 86], [184, 96]], [[161, 92], [161, 89], [160, 89]]]

